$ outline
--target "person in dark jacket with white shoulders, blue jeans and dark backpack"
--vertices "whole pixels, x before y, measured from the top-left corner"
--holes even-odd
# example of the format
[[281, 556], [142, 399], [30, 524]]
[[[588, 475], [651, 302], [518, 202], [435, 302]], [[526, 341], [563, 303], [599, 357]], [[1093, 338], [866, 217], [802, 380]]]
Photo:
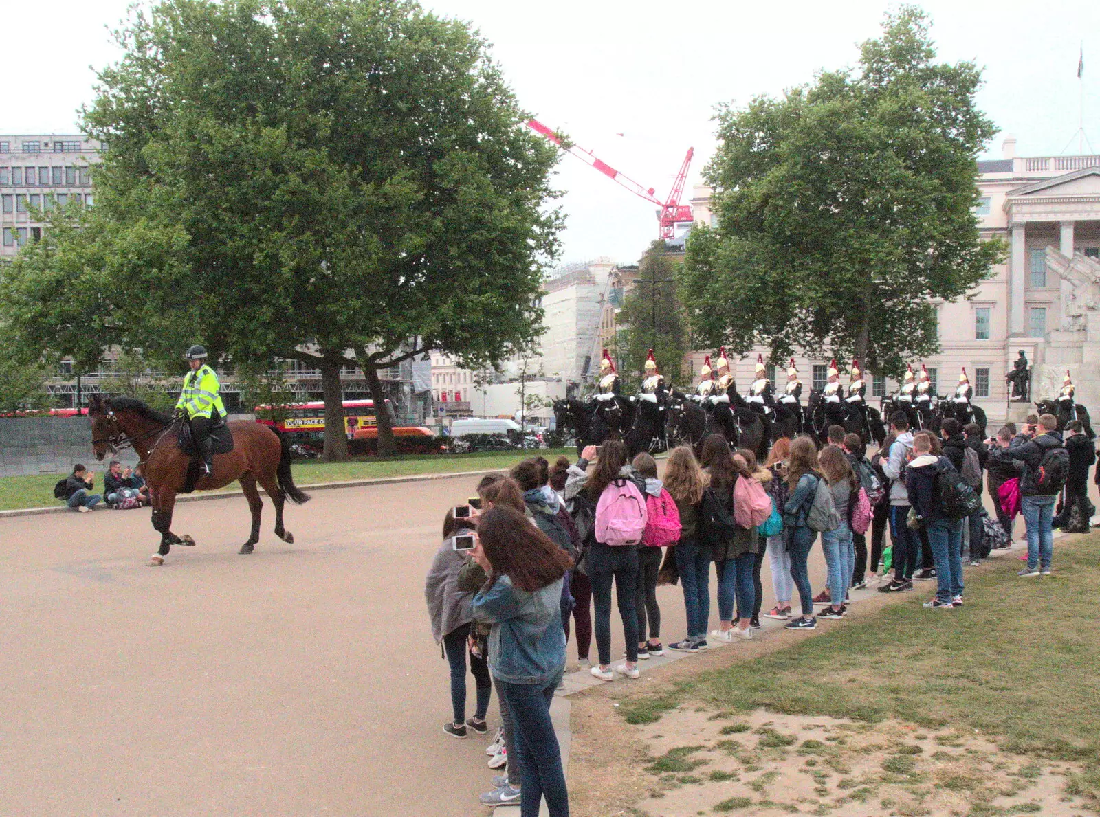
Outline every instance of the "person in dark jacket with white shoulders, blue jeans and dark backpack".
[[909, 504], [927, 531], [936, 563], [936, 597], [925, 601], [930, 609], [963, 605], [963, 522], [948, 519], [939, 495], [939, 475], [954, 471], [950, 460], [932, 453], [932, 438], [922, 432], [913, 438], [913, 451], [905, 471]]

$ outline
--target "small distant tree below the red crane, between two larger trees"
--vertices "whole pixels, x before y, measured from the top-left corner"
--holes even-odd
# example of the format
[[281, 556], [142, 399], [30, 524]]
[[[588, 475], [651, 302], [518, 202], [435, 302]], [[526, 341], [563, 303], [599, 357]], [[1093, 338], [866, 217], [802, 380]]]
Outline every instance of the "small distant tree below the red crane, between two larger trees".
[[680, 376], [691, 339], [683, 306], [676, 297], [675, 272], [680, 263], [664, 242], [654, 241], [641, 257], [638, 277], [623, 300], [618, 322], [624, 328], [617, 338], [617, 356], [628, 390], [640, 386], [650, 349], [664, 383], [683, 387]]

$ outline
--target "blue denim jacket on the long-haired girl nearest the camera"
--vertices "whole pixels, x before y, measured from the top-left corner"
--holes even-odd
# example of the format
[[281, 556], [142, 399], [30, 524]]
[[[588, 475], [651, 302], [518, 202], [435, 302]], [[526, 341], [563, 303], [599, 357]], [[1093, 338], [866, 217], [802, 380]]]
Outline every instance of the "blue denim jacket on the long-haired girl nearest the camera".
[[501, 576], [479, 593], [471, 614], [490, 623], [488, 666], [509, 684], [547, 684], [565, 669], [565, 632], [561, 627], [562, 579], [527, 593]]

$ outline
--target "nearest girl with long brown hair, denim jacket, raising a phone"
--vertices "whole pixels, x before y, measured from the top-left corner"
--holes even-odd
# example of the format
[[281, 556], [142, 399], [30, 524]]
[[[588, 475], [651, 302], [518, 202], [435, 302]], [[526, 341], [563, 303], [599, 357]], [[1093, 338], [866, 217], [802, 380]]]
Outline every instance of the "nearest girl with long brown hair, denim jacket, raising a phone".
[[550, 702], [565, 670], [559, 605], [573, 562], [507, 506], [481, 515], [477, 539], [473, 557], [490, 579], [474, 597], [471, 615], [492, 625], [488, 666], [514, 724], [524, 813], [538, 814], [544, 796], [551, 817], [566, 817], [569, 793]]

